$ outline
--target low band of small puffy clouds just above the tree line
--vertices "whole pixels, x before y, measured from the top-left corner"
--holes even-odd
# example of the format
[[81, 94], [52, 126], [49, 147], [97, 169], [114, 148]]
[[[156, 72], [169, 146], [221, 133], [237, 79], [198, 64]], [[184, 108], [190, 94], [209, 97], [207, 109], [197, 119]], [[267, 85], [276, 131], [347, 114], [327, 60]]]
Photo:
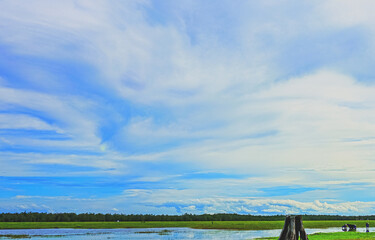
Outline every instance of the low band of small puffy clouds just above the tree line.
[[[242, 214], [343, 214], [368, 215], [375, 212], [374, 202], [363, 201], [296, 201], [287, 198], [255, 197], [193, 197], [204, 196], [202, 192], [174, 189], [128, 189], [120, 196], [109, 198], [74, 198], [70, 196], [23, 196], [12, 201], [0, 199], [4, 209], [20, 208], [44, 210], [32, 207], [32, 204], [52, 206], [61, 203], [64, 211], [84, 212], [91, 209], [95, 212], [138, 213], [138, 207], [147, 206], [141, 213], [242, 213]], [[206, 192], [207, 193], [207, 192]], [[64, 203], [64, 204], [63, 204]], [[61, 211], [58, 207], [49, 210]], [[116, 209], [116, 210], [115, 210]], [[44, 210], [45, 211], [45, 210]]]

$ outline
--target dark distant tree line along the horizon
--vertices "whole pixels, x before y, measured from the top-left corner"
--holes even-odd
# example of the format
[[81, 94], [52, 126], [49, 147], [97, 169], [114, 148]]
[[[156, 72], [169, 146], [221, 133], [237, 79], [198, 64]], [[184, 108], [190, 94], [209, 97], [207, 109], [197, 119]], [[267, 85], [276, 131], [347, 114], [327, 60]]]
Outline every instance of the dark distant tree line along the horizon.
[[[371, 216], [340, 215], [302, 215], [303, 220], [375, 220]], [[217, 214], [102, 214], [102, 213], [0, 213], [0, 222], [114, 222], [114, 221], [282, 221], [284, 215], [241, 215], [231, 213]]]

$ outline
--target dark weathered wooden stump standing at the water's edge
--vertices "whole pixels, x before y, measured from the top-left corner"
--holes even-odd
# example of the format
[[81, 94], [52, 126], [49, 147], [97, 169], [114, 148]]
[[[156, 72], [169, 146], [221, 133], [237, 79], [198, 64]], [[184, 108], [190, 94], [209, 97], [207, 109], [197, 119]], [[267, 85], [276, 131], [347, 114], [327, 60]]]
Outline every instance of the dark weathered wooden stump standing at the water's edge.
[[287, 216], [279, 240], [309, 240], [301, 216]]

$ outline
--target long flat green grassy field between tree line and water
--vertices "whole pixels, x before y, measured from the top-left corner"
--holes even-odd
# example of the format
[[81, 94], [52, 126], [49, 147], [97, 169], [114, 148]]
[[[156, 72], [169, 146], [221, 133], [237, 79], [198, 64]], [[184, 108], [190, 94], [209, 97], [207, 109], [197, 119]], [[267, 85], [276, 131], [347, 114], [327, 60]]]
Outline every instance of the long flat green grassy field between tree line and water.
[[[366, 222], [375, 226], [373, 221], [304, 221], [305, 228], [341, 227], [345, 223], [365, 227]], [[240, 229], [266, 230], [282, 229], [284, 221], [188, 221], [188, 222], [0, 222], [0, 229], [32, 228], [166, 228], [189, 227], [196, 229]]]

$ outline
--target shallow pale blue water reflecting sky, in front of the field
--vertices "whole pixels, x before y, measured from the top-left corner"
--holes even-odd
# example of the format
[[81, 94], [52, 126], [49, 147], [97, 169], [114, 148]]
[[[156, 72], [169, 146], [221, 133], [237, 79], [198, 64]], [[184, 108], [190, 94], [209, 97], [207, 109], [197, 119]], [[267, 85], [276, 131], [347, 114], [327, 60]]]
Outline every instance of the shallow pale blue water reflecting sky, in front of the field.
[[[370, 231], [372, 231], [370, 229]], [[102, 240], [102, 239], [254, 239], [279, 236], [281, 230], [215, 230], [191, 228], [128, 228], [128, 229], [7, 229], [1, 235], [27, 235], [32, 240]], [[316, 232], [341, 232], [341, 228], [306, 229], [307, 234]], [[358, 228], [357, 232], [365, 232]], [[0, 237], [0, 239], [11, 239]]]

